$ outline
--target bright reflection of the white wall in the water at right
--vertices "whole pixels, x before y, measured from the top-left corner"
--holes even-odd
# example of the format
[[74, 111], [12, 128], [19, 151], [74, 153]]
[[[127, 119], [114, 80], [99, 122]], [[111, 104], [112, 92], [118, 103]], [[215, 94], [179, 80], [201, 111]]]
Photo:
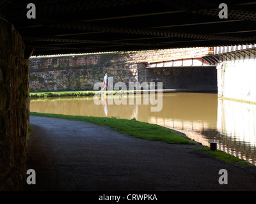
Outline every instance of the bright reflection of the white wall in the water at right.
[[219, 149], [255, 164], [256, 105], [218, 99], [217, 121]]

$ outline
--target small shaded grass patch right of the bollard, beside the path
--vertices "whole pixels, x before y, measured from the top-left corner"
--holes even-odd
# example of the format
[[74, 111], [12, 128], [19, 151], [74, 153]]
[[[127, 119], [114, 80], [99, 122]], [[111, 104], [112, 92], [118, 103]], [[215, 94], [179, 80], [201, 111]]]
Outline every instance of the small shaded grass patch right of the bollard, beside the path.
[[239, 159], [239, 157], [233, 156], [221, 150], [212, 151], [209, 147], [196, 149], [203, 150], [204, 152], [206, 152], [206, 154], [209, 154], [213, 157], [216, 157], [216, 159], [220, 161], [224, 161], [225, 163], [232, 164], [234, 166], [255, 166], [254, 164], [249, 163], [248, 161]]

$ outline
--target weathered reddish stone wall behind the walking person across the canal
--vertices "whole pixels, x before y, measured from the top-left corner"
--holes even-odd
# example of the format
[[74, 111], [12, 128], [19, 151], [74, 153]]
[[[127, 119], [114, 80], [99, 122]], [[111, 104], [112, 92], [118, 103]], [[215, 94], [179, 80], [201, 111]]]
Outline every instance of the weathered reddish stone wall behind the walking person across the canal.
[[30, 59], [31, 91], [92, 90], [105, 73], [115, 82], [138, 80], [140, 64], [127, 62], [129, 54], [111, 53]]

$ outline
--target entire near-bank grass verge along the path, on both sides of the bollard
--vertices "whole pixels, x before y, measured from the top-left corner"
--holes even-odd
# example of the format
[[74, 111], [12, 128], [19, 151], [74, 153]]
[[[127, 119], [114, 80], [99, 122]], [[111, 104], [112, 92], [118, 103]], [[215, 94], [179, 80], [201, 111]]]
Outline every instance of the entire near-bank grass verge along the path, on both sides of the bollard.
[[[38, 115], [44, 117], [56, 117], [60, 119], [68, 120], [83, 120], [86, 122], [92, 122], [101, 126], [107, 126], [115, 129], [120, 133], [135, 136], [136, 138], [142, 138], [147, 140], [155, 140], [172, 144], [188, 144], [193, 145], [190, 138], [186, 136], [180, 136], [178, 133], [173, 132], [171, 129], [163, 128], [155, 124], [149, 124], [147, 122], [140, 122], [135, 119], [116, 119], [108, 117], [87, 117], [87, 116], [74, 116], [74, 115], [59, 115], [51, 113], [35, 113], [31, 112], [31, 115]], [[254, 164], [248, 163], [243, 159], [232, 156], [221, 150], [211, 151], [210, 148], [202, 146], [201, 148], [195, 148], [196, 150], [203, 150], [206, 154], [209, 154], [220, 161], [232, 164], [234, 166], [255, 166]]]

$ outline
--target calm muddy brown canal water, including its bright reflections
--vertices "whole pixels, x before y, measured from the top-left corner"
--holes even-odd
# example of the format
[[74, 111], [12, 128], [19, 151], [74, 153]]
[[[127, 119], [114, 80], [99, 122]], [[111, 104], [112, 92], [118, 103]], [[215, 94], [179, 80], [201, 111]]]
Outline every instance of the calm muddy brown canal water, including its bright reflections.
[[[175, 129], [203, 145], [209, 146], [209, 142], [216, 141], [218, 149], [256, 164], [256, 105], [220, 99], [217, 94], [175, 92], [160, 94], [158, 97], [163, 99], [162, 109], [152, 112], [152, 106], [157, 105], [151, 105], [147, 94], [120, 97], [102, 97], [97, 103], [93, 96], [31, 99], [30, 111], [135, 118]], [[155, 99], [159, 98], [156, 94]], [[121, 99], [126, 100], [127, 104], [115, 103]], [[134, 103], [131, 104], [129, 100]]]

